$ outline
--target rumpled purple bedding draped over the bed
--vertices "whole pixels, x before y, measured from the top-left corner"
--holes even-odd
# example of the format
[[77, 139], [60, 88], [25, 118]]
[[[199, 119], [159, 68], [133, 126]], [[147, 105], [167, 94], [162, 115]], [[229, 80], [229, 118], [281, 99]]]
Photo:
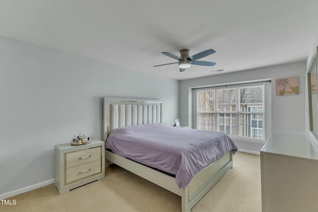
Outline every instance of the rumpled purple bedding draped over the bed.
[[179, 189], [203, 168], [238, 148], [224, 133], [146, 124], [116, 128], [105, 148], [144, 165], [174, 174]]

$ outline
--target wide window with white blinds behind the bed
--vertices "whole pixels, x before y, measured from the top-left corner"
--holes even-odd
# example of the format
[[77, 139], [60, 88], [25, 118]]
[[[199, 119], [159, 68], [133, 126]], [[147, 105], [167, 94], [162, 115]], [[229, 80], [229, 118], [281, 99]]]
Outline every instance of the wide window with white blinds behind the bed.
[[197, 129], [264, 141], [264, 84], [197, 90]]

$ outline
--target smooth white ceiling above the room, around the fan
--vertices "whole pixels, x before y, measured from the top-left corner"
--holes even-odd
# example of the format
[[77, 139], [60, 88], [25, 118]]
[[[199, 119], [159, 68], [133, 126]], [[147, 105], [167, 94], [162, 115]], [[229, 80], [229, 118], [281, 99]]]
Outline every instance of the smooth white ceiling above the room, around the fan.
[[[0, 0], [0, 36], [188, 79], [305, 61], [318, 26], [318, 0]], [[161, 52], [202, 58], [191, 66]], [[213, 72], [216, 70], [224, 70]]]

